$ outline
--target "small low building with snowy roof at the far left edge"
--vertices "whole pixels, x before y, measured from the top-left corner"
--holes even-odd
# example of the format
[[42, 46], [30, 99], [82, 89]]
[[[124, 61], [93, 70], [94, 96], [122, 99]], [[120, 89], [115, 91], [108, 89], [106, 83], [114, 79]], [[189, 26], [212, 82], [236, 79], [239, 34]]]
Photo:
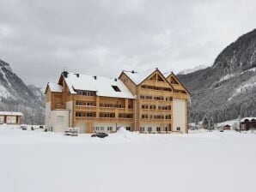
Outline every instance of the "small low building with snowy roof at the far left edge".
[[22, 116], [21, 112], [0, 111], [0, 124], [20, 124]]

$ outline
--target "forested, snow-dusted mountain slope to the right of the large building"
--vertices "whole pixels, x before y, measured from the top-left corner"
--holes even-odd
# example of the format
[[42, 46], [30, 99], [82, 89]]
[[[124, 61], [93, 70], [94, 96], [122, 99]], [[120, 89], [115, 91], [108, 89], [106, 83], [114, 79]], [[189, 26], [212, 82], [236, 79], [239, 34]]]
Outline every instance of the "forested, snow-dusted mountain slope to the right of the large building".
[[190, 122], [256, 116], [256, 30], [227, 46], [214, 64], [178, 75], [192, 93]]

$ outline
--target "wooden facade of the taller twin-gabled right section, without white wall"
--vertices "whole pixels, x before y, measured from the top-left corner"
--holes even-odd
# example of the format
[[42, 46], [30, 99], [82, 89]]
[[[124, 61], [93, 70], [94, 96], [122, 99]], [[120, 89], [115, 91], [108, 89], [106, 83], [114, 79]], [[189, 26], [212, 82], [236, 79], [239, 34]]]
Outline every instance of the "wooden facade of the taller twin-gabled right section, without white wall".
[[[172, 78], [175, 78], [175, 81], [171, 81]], [[174, 74], [166, 78], [159, 69], [155, 69], [152, 74], [140, 83], [132, 81], [129, 75], [124, 72], [121, 73], [119, 79], [125, 83], [131, 93], [136, 95], [135, 131], [173, 132], [173, 99], [185, 99], [185, 132], [188, 132], [187, 101], [190, 99], [190, 94]], [[152, 130], [154, 125], [156, 129]]]

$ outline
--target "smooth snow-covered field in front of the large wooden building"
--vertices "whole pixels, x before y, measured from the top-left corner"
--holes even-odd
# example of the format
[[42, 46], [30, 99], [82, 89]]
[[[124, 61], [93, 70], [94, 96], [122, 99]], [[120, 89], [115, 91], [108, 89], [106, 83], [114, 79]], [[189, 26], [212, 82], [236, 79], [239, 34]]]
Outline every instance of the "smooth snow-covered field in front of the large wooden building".
[[256, 135], [119, 133], [106, 139], [0, 126], [3, 192], [255, 192]]

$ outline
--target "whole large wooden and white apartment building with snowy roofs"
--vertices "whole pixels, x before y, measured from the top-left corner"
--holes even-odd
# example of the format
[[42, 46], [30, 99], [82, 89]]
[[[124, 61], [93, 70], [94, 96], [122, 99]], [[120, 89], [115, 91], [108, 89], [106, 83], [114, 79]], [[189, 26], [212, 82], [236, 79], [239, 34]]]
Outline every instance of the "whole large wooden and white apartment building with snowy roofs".
[[178, 78], [159, 69], [145, 75], [123, 71], [118, 79], [64, 71], [46, 87], [46, 129], [187, 133], [188, 99]]

